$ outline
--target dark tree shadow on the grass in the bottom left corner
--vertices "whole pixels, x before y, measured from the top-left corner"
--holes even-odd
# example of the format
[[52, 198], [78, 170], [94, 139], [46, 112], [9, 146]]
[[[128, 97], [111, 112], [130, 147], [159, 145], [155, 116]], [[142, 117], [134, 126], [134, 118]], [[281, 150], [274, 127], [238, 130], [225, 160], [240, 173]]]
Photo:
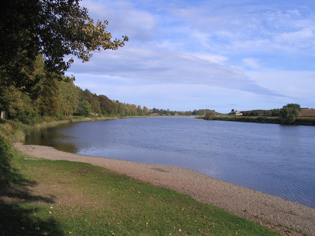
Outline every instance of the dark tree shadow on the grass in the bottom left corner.
[[11, 165], [10, 146], [0, 136], [0, 236], [63, 235], [53, 218], [42, 219], [28, 203], [54, 203], [52, 197], [33, 195], [36, 183], [23, 177]]

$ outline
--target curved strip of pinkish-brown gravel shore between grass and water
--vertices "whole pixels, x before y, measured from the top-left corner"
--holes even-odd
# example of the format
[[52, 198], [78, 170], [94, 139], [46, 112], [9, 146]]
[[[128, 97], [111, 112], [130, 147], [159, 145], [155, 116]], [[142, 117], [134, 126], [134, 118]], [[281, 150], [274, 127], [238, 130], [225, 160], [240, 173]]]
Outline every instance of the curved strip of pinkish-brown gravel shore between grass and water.
[[[251, 219], [283, 235], [315, 236], [315, 208], [209, 177], [196, 171], [84, 156], [45, 146], [16, 143], [15, 147], [34, 157], [91, 163], [138, 180], [174, 189], [177, 192], [189, 194], [199, 201]], [[294, 230], [288, 230], [288, 228]]]

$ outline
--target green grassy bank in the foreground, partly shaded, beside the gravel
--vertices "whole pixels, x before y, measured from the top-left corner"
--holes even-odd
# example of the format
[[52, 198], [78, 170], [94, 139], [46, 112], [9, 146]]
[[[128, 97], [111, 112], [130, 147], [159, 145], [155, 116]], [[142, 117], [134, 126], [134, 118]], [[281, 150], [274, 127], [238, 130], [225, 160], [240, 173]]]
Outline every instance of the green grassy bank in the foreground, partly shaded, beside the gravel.
[[33, 158], [9, 145], [22, 134], [0, 123], [0, 236], [279, 236], [101, 167]]

